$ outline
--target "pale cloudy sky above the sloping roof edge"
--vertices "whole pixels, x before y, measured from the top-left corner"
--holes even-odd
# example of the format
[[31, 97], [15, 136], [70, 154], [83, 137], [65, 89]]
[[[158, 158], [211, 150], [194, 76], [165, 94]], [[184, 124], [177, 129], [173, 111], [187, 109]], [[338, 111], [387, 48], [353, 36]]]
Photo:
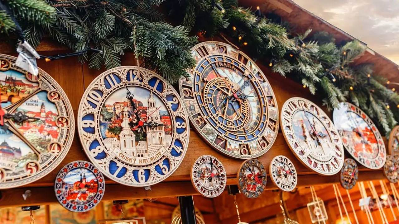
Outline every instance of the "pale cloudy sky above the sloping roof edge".
[[399, 64], [398, 0], [293, 0]]

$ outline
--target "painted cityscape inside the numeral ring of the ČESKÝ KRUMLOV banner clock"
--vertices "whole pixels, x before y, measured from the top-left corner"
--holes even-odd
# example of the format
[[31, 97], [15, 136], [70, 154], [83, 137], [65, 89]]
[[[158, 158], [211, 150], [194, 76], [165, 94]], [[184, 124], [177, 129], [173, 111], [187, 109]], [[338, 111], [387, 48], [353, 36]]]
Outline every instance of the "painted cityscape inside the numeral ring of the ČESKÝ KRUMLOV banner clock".
[[144, 124], [153, 122], [156, 127], [138, 127], [133, 108], [126, 99], [126, 89], [113, 92], [101, 108], [100, 130], [105, 146], [120, 149], [133, 157], [148, 157], [160, 148], [168, 148], [172, 141], [170, 114], [164, 103], [152, 92], [136, 86], [128, 87], [134, 95], [133, 102]]

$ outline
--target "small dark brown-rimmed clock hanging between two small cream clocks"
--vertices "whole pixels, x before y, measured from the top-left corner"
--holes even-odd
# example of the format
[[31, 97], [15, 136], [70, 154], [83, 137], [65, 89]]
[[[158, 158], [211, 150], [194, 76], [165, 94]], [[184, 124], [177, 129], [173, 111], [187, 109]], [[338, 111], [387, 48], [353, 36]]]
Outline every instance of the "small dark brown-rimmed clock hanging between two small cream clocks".
[[237, 173], [237, 185], [248, 198], [257, 198], [266, 187], [266, 169], [257, 159], [245, 160]]

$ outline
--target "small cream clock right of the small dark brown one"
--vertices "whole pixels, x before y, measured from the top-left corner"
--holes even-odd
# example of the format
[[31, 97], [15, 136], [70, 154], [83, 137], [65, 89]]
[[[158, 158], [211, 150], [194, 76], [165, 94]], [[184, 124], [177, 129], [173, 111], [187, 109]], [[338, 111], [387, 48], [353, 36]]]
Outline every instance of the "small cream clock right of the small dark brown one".
[[274, 157], [269, 166], [270, 179], [282, 191], [292, 191], [298, 183], [294, 164], [284, 155]]

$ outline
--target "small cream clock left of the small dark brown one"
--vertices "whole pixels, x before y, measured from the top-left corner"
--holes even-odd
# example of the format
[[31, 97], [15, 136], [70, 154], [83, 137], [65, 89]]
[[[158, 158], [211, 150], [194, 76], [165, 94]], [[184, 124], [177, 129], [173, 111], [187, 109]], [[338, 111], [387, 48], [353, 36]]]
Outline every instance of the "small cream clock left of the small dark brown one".
[[191, 168], [191, 182], [207, 198], [219, 196], [226, 187], [226, 171], [219, 159], [202, 155]]

